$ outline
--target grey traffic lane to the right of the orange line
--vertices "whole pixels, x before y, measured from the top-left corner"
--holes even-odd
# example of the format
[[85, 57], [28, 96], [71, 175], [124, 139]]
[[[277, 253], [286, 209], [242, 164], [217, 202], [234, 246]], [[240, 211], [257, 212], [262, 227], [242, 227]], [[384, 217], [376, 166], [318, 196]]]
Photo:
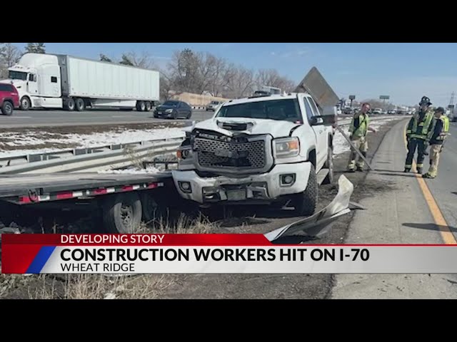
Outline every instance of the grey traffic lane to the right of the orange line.
[[[438, 176], [434, 180], [426, 180], [426, 183], [448, 224], [449, 230], [457, 239], [457, 123], [451, 123], [449, 133], [451, 135], [446, 138], [443, 152], [440, 155]], [[427, 158], [424, 172], [428, 168], [428, 160]]]

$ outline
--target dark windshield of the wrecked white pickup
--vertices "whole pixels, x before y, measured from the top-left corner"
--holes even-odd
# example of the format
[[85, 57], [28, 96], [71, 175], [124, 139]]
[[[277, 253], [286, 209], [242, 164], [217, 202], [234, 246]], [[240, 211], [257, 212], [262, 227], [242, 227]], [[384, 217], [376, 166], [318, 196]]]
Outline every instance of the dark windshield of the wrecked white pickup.
[[219, 118], [255, 118], [302, 122], [298, 100], [286, 98], [238, 105], [225, 105], [216, 115]]

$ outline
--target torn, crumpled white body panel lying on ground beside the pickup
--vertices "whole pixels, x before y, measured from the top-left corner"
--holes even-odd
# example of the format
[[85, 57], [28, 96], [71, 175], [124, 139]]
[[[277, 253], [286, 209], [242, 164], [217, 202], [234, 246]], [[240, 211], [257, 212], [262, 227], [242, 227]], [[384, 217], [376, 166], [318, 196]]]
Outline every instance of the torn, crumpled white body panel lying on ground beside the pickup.
[[271, 242], [278, 242], [278, 239], [293, 236], [298, 232], [306, 232], [308, 237], [321, 237], [328, 232], [333, 222], [351, 212], [349, 206], [352, 192], [353, 184], [341, 175], [338, 179], [338, 194], [327, 207], [313, 216], [266, 233], [265, 237]]

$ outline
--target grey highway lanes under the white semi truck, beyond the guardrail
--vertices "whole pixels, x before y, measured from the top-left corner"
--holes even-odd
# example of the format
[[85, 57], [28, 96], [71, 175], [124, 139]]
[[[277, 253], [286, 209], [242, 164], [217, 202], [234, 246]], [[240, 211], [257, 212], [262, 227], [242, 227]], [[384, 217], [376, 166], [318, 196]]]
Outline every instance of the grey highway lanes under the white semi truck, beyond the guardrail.
[[[213, 112], [204, 110], [194, 110], [191, 120], [206, 120], [211, 118], [213, 114]], [[156, 123], [161, 121], [169, 122], [170, 120], [156, 119], [152, 111], [86, 110], [84, 112], [68, 112], [65, 110], [14, 110], [11, 116], [0, 115], [0, 128]]]

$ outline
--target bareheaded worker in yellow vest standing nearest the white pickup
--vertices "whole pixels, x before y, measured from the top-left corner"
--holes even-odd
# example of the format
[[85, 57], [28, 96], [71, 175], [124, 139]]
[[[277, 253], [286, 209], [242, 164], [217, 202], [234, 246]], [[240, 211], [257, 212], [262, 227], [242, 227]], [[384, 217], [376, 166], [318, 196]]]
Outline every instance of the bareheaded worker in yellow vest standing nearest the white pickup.
[[[351, 126], [349, 127], [349, 139], [351, 139], [352, 144], [360, 150], [363, 157], [366, 157], [366, 152], [368, 151], [368, 142], [366, 140], [366, 135], [368, 130], [376, 133], [374, 128], [370, 127], [370, 120], [368, 118], [368, 111], [371, 109], [369, 103], [363, 103], [360, 110], [358, 110], [352, 117]], [[359, 157], [357, 159], [357, 157]], [[363, 171], [365, 162], [360, 156], [357, 155], [356, 150], [351, 147], [351, 157], [349, 158], [348, 171], [356, 172]]]

